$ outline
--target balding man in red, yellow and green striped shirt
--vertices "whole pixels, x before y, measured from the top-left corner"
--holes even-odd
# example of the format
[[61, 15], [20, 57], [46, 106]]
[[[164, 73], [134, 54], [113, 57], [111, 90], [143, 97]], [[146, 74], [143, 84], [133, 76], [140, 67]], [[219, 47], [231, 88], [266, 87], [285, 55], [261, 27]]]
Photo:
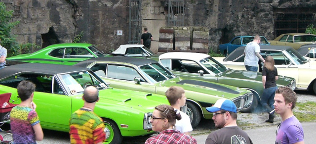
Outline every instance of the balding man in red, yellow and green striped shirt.
[[95, 87], [87, 87], [83, 92], [83, 107], [75, 111], [69, 121], [71, 144], [102, 144], [105, 141], [103, 120], [94, 112], [99, 93]]

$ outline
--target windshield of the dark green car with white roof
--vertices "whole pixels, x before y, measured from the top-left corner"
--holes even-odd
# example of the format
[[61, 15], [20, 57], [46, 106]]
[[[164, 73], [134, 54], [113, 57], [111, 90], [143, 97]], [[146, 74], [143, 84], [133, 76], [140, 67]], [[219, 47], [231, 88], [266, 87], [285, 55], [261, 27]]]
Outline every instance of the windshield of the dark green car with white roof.
[[215, 74], [221, 73], [226, 70], [226, 67], [224, 65], [222, 65], [212, 57], [204, 58], [199, 62]]

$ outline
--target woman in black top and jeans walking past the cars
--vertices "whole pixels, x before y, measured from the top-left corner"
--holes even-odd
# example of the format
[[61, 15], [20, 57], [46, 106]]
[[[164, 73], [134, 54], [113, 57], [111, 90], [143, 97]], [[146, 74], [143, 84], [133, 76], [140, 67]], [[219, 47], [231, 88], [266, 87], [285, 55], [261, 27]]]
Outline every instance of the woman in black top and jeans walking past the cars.
[[[267, 56], [262, 69], [262, 84], [263, 84], [263, 96], [261, 98], [261, 104], [263, 108], [269, 113], [274, 107], [274, 98], [276, 94], [276, 80], [277, 80], [277, 69], [275, 67], [275, 61], [272, 56]], [[269, 113], [269, 119], [266, 122], [273, 123], [275, 118], [274, 112]]]

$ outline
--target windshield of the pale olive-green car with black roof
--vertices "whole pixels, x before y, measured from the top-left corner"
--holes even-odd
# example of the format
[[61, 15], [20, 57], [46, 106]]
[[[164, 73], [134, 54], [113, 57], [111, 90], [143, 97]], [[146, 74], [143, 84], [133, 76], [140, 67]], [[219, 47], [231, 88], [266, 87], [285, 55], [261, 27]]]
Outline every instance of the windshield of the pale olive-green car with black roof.
[[175, 78], [169, 70], [159, 63], [150, 63], [139, 67], [141, 73], [152, 83]]

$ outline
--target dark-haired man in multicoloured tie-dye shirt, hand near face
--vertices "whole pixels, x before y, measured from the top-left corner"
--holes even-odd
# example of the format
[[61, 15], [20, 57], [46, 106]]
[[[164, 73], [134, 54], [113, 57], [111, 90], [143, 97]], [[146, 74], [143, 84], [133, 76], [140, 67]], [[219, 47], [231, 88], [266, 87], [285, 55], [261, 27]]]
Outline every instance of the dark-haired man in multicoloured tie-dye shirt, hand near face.
[[36, 141], [43, 140], [44, 135], [33, 102], [35, 84], [22, 81], [17, 89], [21, 103], [13, 107], [10, 113], [13, 144], [36, 144]]

